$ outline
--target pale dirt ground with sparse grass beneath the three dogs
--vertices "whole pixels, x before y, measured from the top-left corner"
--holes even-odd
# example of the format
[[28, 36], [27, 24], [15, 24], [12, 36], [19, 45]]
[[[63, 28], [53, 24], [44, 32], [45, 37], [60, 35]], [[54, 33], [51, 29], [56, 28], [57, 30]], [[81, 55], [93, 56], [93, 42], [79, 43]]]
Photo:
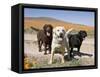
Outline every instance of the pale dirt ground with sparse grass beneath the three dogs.
[[[37, 33], [25, 33], [24, 34], [24, 53], [27, 57], [31, 59], [35, 59], [37, 65], [39, 66], [32, 66], [33, 68], [44, 68], [44, 67], [60, 67], [60, 66], [86, 66], [86, 65], [94, 65], [94, 38], [86, 38], [81, 46], [80, 52], [81, 57], [75, 56], [77, 61], [66, 61], [65, 64], [60, 64], [59, 59], [60, 55], [54, 55], [54, 63], [52, 65], [48, 65], [48, 61], [50, 59], [50, 54], [44, 55], [44, 51], [38, 51], [37, 45]], [[68, 65], [69, 64], [69, 65]]]

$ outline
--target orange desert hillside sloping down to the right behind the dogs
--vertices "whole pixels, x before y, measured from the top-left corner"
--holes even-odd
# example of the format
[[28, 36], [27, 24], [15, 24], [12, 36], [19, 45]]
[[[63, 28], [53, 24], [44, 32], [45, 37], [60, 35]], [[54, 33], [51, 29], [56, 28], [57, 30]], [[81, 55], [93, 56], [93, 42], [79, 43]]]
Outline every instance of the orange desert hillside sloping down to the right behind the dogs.
[[30, 27], [34, 27], [36, 29], [42, 29], [44, 24], [51, 24], [53, 27], [64, 26], [66, 29], [74, 28], [76, 30], [86, 30], [86, 31], [92, 31], [94, 29], [94, 27], [88, 25], [74, 24], [49, 17], [34, 17], [34, 18], [25, 17], [24, 29], [28, 29]]

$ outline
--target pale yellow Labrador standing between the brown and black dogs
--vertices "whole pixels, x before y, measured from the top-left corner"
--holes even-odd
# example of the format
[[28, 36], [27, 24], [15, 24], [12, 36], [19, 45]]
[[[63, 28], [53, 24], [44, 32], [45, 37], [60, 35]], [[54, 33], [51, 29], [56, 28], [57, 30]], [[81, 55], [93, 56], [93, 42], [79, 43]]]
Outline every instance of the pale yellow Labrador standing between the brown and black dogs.
[[68, 32], [66, 32], [65, 28], [61, 27], [61, 26], [55, 27], [53, 29], [52, 50], [51, 50], [50, 61], [49, 61], [48, 64], [52, 64], [53, 57], [54, 57], [55, 53], [59, 53], [59, 54], [62, 55], [62, 57], [61, 57], [61, 63], [64, 63], [65, 49], [69, 48], [68, 45], [66, 45], [66, 44], [68, 44], [68, 42], [65, 41], [65, 35], [67, 35], [71, 31], [72, 31], [72, 29], [70, 29]]

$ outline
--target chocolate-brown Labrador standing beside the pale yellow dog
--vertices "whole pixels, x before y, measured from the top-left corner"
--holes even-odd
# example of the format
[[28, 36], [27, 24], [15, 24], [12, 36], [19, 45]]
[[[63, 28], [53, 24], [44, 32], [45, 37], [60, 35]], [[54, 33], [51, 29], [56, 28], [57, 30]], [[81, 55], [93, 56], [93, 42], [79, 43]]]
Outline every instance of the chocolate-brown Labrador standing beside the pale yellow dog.
[[47, 50], [49, 50], [49, 53], [51, 53], [52, 30], [53, 27], [51, 24], [45, 24], [43, 30], [40, 30], [37, 33], [39, 52], [41, 52], [41, 46], [44, 45], [45, 55], [47, 54]]

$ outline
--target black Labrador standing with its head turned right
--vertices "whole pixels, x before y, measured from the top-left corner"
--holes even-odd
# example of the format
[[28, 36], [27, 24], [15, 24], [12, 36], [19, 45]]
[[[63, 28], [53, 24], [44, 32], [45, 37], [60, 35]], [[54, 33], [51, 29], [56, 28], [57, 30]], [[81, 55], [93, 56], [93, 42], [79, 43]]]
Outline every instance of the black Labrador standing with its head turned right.
[[87, 37], [87, 32], [80, 30], [78, 34], [68, 34], [69, 47], [70, 47], [70, 58], [73, 57], [73, 48], [77, 48], [77, 52], [80, 52], [80, 47], [83, 40]]

